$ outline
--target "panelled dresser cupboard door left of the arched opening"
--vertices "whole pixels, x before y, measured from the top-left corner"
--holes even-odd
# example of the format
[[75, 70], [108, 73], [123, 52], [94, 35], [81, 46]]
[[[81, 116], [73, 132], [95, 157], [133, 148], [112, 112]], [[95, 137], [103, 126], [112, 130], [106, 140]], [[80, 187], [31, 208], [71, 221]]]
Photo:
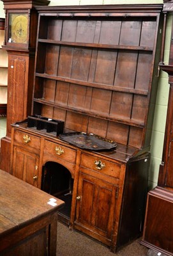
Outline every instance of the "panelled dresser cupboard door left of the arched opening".
[[39, 156], [26, 150], [14, 147], [13, 175], [27, 183], [38, 186]]

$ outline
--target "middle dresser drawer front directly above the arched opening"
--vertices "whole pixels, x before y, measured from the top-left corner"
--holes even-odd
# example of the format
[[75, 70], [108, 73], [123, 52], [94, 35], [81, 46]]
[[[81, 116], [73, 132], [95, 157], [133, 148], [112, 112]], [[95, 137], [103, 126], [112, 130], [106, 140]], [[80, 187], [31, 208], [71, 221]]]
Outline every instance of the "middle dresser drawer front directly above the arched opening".
[[51, 141], [45, 140], [43, 155], [44, 156], [47, 155], [49, 157], [56, 157], [56, 158], [58, 157], [59, 159], [63, 159], [64, 161], [75, 163], [77, 150], [64, 147], [59, 143], [53, 143]]

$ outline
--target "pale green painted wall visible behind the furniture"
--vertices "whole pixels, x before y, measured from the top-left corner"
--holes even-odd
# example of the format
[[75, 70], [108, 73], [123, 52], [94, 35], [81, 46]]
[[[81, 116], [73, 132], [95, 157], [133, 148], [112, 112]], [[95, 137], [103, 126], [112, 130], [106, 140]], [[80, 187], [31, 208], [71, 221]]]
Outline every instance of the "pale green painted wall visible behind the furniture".
[[[51, 0], [50, 6], [55, 5], [82, 5], [82, 4], [162, 4], [162, 0]], [[3, 17], [3, 4], [0, 2], [0, 17]], [[170, 31], [172, 24], [172, 16], [169, 15], [167, 20], [167, 31], [165, 41], [165, 64], [169, 60], [169, 47], [170, 47]], [[165, 121], [167, 115], [167, 101], [169, 96], [168, 77], [165, 72], [160, 72], [158, 93], [156, 96], [156, 105], [154, 111], [154, 123], [151, 137], [151, 164], [149, 168], [149, 189], [157, 184], [159, 166], [162, 161], [163, 140], [165, 132]], [[154, 108], [154, 106], [153, 106]], [[0, 120], [1, 122], [1, 120]], [[0, 130], [5, 125], [1, 122]], [[0, 132], [1, 136], [1, 132]]]

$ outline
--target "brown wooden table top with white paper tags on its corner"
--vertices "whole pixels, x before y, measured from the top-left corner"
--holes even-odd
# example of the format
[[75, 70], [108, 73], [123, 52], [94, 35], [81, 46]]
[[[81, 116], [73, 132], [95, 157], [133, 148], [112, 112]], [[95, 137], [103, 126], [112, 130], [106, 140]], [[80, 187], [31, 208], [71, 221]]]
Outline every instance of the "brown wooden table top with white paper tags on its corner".
[[57, 211], [62, 200], [0, 170], [0, 237]]

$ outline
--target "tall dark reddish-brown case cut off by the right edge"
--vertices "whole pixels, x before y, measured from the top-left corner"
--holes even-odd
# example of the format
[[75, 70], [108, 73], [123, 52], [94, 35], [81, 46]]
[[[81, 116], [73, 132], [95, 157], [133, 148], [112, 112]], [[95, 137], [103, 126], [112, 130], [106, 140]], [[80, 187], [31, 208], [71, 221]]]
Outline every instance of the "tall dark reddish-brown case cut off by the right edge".
[[[173, 12], [173, 1], [164, 1], [163, 11]], [[162, 163], [158, 175], [158, 186], [147, 196], [144, 234], [141, 244], [165, 255], [173, 255], [173, 54], [172, 34], [170, 39], [169, 65], [160, 68], [169, 75], [169, 102], [163, 144]], [[169, 86], [167, 85], [167, 86]]]

